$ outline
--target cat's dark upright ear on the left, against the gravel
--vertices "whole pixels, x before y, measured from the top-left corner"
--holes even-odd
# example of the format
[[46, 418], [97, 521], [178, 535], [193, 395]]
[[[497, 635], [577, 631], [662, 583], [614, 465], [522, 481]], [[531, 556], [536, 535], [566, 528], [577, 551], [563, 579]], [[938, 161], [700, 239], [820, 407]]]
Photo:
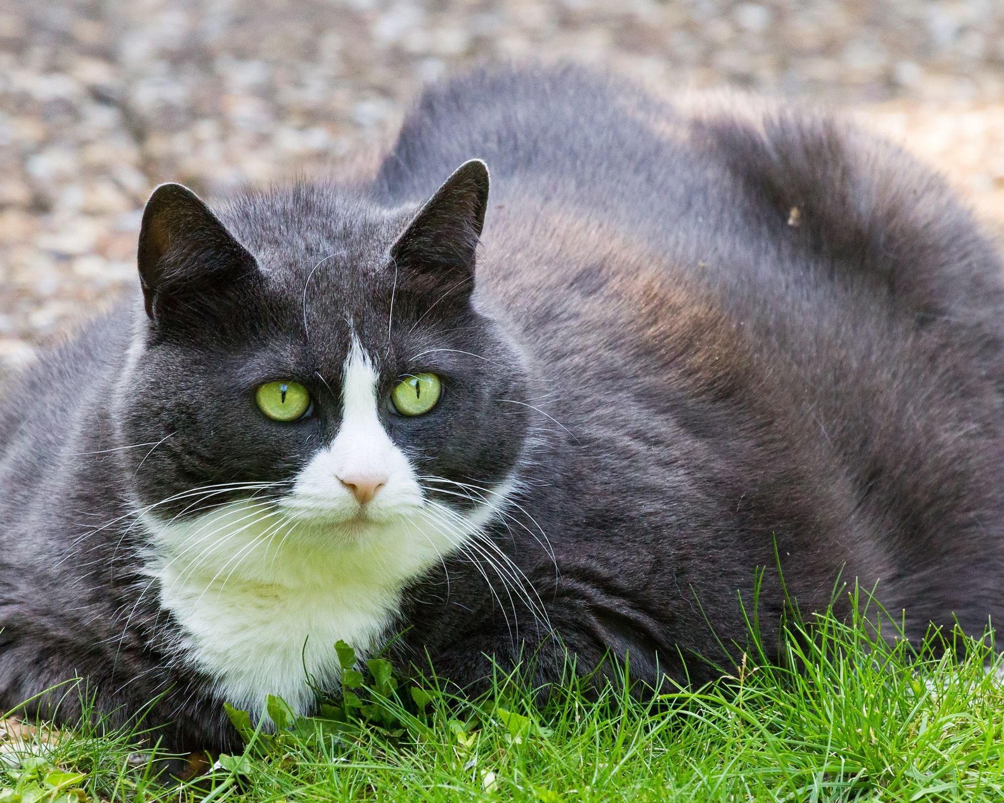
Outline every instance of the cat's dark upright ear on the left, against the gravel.
[[212, 293], [257, 271], [254, 257], [180, 184], [162, 184], [147, 202], [138, 262], [147, 314], [155, 321], [172, 300]]

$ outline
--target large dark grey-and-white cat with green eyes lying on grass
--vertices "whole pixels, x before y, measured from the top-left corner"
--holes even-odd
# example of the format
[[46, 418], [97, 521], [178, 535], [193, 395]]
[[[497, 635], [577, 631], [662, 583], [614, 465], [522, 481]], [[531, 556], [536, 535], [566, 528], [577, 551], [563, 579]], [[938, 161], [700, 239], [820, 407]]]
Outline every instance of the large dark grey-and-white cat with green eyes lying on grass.
[[912, 638], [1002, 612], [1000, 258], [845, 122], [484, 67], [362, 178], [157, 188], [138, 267], [5, 393], [0, 710], [78, 678], [233, 750], [338, 639], [654, 685], [757, 593], [767, 649], [853, 581]]

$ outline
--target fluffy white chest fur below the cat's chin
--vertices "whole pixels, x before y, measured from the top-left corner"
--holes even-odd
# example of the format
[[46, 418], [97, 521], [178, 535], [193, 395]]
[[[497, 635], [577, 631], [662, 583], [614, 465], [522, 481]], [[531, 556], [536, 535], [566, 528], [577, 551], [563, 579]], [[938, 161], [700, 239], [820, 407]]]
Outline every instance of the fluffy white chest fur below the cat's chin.
[[442, 511], [430, 507], [335, 544], [249, 502], [184, 524], [148, 518], [157, 544], [148, 573], [184, 633], [183, 659], [236, 706], [257, 712], [272, 694], [304, 710], [308, 677], [320, 686], [337, 680], [335, 641], [365, 653], [393, 634], [404, 585], [493, 513], [478, 511], [465, 533], [444, 528]]

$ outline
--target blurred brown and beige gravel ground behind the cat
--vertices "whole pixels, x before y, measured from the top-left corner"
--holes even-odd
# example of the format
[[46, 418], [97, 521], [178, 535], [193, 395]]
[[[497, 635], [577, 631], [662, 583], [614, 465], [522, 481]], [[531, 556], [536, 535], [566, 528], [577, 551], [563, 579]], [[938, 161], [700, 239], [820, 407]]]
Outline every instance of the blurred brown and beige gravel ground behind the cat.
[[487, 57], [846, 108], [1004, 232], [1004, 0], [0, 0], [0, 377], [134, 285], [156, 183], [324, 171]]

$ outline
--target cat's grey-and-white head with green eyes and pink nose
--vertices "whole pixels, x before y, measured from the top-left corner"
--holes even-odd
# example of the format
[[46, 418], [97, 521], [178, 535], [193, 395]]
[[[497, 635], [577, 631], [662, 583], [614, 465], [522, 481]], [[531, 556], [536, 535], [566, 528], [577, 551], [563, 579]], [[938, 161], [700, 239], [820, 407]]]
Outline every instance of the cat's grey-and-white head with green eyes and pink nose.
[[146, 515], [261, 503], [294, 538], [349, 543], [496, 507], [527, 377], [474, 292], [487, 200], [479, 161], [399, 208], [302, 185], [214, 214], [158, 188], [117, 401]]

